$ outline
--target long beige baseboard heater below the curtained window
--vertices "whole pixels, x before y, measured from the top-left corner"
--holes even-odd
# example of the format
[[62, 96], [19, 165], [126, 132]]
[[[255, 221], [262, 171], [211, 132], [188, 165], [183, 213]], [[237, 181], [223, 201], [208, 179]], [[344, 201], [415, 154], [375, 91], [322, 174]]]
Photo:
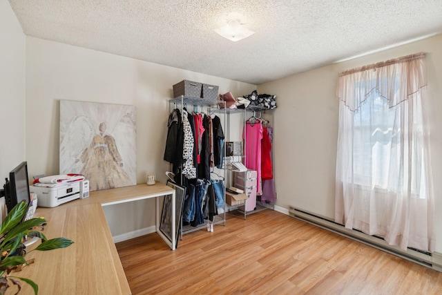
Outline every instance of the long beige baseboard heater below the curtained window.
[[439, 254], [437, 252], [430, 253], [411, 248], [407, 249], [407, 251], [404, 251], [400, 247], [388, 245], [387, 242], [385, 242], [385, 240], [383, 240], [382, 238], [369, 236], [361, 231], [356, 231], [354, 229], [346, 229], [343, 225], [340, 225], [333, 220], [329, 220], [329, 218], [318, 216], [314, 213], [302, 209], [297, 209], [291, 206], [289, 207], [289, 215], [299, 220], [309, 222], [310, 224], [316, 225], [317, 227], [333, 231], [334, 233], [340, 234], [341, 236], [351, 238], [352, 240], [356, 240], [358, 242], [363, 242], [365, 245], [369, 245], [375, 247], [376, 249], [380, 249], [387, 253], [410, 260], [413, 263], [417, 263], [419, 265], [434, 269], [438, 272], [442, 272], [442, 254]]

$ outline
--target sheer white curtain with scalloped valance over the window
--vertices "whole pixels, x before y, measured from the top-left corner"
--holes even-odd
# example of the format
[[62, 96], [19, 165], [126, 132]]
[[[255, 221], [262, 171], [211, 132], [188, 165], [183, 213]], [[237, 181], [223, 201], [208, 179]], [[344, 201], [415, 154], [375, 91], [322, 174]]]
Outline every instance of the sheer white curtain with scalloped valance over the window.
[[425, 53], [340, 73], [335, 221], [434, 251]]

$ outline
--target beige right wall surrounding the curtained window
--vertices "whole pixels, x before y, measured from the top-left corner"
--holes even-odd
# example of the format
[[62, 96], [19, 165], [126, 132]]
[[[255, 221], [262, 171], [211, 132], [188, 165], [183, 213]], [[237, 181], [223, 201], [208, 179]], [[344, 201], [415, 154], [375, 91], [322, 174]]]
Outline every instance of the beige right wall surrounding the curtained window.
[[[428, 93], [436, 225], [442, 224], [442, 36], [332, 64], [258, 86], [277, 95], [275, 156], [277, 205], [334, 218], [338, 73], [412, 53], [427, 53]], [[442, 227], [436, 226], [442, 252]]]

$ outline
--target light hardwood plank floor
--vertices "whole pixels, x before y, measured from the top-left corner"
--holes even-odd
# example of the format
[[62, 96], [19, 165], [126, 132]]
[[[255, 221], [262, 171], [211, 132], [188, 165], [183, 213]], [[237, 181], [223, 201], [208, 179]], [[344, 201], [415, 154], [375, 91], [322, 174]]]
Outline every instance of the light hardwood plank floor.
[[442, 274], [277, 211], [117, 243], [133, 294], [442, 294]]

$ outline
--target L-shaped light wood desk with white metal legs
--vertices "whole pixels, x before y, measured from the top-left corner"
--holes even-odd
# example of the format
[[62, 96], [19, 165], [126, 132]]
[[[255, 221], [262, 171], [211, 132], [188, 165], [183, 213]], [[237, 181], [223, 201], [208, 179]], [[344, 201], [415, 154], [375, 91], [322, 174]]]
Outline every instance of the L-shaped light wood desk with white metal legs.
[[[39, 285], [39, 294], [131, 294], [102, 206], [156, 198], [156, 228], [165, 238], [159, 231], [157, 197], [167, 195], [173, 196], [175, 211], [175, 190], [158, 182], [152, 186], [137, 184], [93, 191], [86, 199], [55, 208], [39, 207], [35, 216], [48, 221], [43, 231], [45, 236], [69, 238], [74, 244], [65, 249], [32, 251], [26, 259], [35, 258], [35, 263], [12, 275], [34, 280]], [[175, 219], [175, 212], [172, 216]], [[173, 240], [167, 242], [175, 249], [175, 220], [172, 221]], [[22, 287], [19, 294], [34, 294], [28, 284], [22, 283]], [[14, 294], [12, 290], [9, 288], [7, 294]]]

